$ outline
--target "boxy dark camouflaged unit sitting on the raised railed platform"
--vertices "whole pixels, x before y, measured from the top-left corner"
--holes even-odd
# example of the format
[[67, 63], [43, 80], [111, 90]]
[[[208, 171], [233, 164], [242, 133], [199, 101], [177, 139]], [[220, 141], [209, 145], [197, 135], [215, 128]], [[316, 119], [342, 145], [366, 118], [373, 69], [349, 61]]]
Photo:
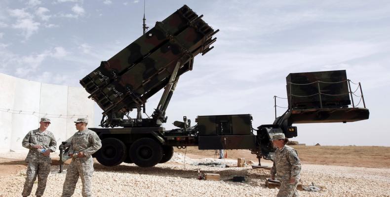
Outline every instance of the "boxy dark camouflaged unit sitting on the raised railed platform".
[[324, 108], [351, 104], [346, 70], [290, 73], [286, 81], [289, 109], [321, 108], [320, 99]]

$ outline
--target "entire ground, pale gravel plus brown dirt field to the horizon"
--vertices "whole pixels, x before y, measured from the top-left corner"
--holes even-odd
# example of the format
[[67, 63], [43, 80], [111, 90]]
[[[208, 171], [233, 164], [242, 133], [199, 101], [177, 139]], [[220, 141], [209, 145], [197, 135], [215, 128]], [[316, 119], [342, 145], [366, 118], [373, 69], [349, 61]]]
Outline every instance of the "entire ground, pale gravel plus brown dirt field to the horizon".
[[[389, 197], [390, 147], [362, 146], [294, 146], [302, 160], [302, 184], [323, 186], [321, 192], [299, 191], [302, 197]], [[228, 150], [228, 158], [214, 159], [215, 151], [195, 147], [176, 149], [165, 164], [141, 168], [134, 164], [106, 167], [95, 163], [92, 191], [97, 197], [272, 197], [277, 189], [268, 189], [264, 182], [269, 170], [237, 167], [237, 158], [257, 164], [248, 150]], [[0, 197], [19, 197], [26, 176], [27, 153], [0, 154]], [[65, 173], [58, 173], [58, 153], [52, 153], [51, 173], [45, 197], [61, 196]], [[210, 167], [198, 163], [222, 163], [229, 167]], [[262, 165], [272, 165], [262, 160]], [[66, 167], [66, 166], [65, 166]], [[197, 180], [197, 170], [218, 173], [221, 181]], [[238, 183], [234, 175], [248, 176]], [[31, 196], [35, 196], [37, 184]], [[81, 197], [79, 179], [74, 197]]]

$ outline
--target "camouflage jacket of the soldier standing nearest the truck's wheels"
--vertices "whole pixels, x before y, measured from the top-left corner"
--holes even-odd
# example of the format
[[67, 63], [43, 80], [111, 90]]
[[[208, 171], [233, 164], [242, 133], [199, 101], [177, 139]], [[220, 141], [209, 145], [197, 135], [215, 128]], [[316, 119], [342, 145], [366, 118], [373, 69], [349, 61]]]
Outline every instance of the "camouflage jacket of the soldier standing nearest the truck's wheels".
[[70, 143], [69, 153], [78, 154], [79, 152], [83, 152], [85, 158], [81, 158], [82, 162], [90, 162], [92, 164], [93, 159], [91, 155], [102, 147], [99, 136], [96, 132], [89, 129], [76, 132], [66, 142]]

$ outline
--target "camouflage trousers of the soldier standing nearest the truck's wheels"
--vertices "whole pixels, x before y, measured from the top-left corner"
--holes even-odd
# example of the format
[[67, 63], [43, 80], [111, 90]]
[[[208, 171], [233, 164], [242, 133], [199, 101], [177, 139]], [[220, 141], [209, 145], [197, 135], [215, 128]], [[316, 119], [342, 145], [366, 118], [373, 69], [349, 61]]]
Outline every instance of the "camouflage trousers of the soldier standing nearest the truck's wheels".
[[[92, 160], [93, 161], [93, 160]], [[71, 197], [75, 192], [78, 177], [81, 178], [83, 197], [92, 197], [91, 181], [93, 173], [93, 163], [82, 161], [82, 159], [72, 159], [69, 164], [64, 187], [62, 189], [61, 197]]]

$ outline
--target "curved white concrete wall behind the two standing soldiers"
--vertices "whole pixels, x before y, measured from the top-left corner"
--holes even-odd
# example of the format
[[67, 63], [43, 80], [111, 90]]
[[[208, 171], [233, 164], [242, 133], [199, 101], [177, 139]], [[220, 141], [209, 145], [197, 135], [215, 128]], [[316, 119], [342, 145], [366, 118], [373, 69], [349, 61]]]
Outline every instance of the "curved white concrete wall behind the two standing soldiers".
[[0, 152], [27, 151], [21, 141], [28, 131], [39, 128], [41, 117], [51, 120], [47, 130], [54, 133], [57, 149], [76, 132], [77, 118], [87, 117], [88, 126], [94, 125], [95, 103], [82, 87], [39, 83], [0, 73], [0, 93]]

